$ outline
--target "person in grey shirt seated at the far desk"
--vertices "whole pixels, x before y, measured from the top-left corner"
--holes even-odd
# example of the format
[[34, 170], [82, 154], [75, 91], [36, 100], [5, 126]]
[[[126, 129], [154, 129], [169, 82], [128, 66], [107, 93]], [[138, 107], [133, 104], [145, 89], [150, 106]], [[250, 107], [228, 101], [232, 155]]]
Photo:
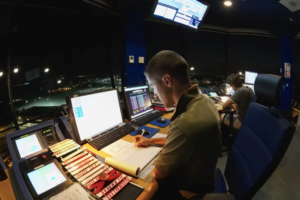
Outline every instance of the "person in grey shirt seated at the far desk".
[[[236, 110], [236, 114], [233, 116], [233, 128], [240, 129], [254, 92], [250, 87], [243, 86], [238, 75], [233, 73], [227, 77], [226, 84], [229, 84], [230, 87], [232, 87], [234, 93], [223, 103], [222, 107], [225, 109], [233, 108]], [[236, 107], [234, 104], [236, 104]], [[221, 122], [225, 125], [229, 125], [229, 118], [229, 114], [220, 114]]]

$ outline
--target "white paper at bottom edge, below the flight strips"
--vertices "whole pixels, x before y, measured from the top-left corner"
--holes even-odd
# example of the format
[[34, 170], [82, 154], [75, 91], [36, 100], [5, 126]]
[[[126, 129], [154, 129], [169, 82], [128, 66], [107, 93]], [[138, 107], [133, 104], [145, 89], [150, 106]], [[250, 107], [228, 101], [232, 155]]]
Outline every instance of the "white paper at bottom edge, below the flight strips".
[[75, 183], [59, 194], [49, 198], [50, 200], [90, 200], [89, 194]]

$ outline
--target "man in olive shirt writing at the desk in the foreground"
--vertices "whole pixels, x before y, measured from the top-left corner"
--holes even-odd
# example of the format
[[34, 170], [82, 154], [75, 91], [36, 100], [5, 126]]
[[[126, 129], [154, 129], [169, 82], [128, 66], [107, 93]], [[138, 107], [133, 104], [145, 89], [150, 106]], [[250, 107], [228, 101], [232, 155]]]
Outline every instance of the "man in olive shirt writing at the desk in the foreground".
[[166, 138], [134, 137], [139, 147], [163, 145], [154, 164], [158, 182], [154, 199], [183, 198], [179, 190], [203, 196], [214, 189], [221, 151], [219, 115], [214, 103], [199, 94], [197, 84], [190, 84], [187, 68], [179, 54], [164, 50], [152, 57], [144, 71], [164, 106], [176, 104]]

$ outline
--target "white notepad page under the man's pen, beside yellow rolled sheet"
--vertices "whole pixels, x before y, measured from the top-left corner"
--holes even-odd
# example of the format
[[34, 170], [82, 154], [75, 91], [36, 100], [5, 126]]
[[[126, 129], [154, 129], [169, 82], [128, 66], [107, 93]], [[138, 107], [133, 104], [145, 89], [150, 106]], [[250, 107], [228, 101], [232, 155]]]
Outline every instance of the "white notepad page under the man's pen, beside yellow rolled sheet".
[[160, 150], [161, 148], [157, 146], [135, 147], [134, 142], [132, 142], [125, 151], [114, 156], [114, 159], [138, 166], [142, 171]]

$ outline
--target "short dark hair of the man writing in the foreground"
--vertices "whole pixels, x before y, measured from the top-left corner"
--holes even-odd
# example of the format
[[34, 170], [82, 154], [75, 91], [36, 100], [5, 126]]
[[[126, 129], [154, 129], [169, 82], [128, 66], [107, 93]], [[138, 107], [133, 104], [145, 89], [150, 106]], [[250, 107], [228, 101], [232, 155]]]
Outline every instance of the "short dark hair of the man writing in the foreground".
[[188, 64], [178, 53], [163, 50], [154, 55], [147, 64], [144, 74], [159, 79], [165, 74], [176, 78], [181, 84], [189, 82]]

